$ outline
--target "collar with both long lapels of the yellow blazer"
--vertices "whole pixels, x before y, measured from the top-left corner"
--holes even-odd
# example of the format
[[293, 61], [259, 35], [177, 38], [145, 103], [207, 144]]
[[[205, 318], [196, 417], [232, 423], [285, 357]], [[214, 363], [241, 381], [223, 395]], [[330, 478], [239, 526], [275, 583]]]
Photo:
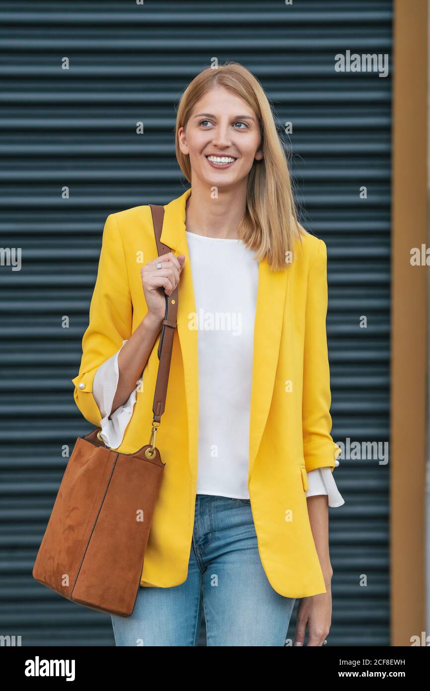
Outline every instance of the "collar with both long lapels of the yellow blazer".
[[[184, 382], [188, 413], [188, 441], [191, 477], [197, 481], [199, 379], [197, 331], [189, 328], [190, 313], [195, 313], [195, 296], [186, 240], [186, 200], [191, 189], [164, 207], [162, 242], [186, 257], [179, 281], [177, 335], [184, 365]], [[257, 304], [253, 341], [253, 383], [249, 424], [248, 484], [255, 457], [260, 448], [271, 406], [275, 373], [280, 350], [284, 305], [289, 269], [274, 272], [266, 259], [258, 269]], [[228, 395], [228, 392], [227, 392]], [[234, 424], [234, 420], [233, 420]]]

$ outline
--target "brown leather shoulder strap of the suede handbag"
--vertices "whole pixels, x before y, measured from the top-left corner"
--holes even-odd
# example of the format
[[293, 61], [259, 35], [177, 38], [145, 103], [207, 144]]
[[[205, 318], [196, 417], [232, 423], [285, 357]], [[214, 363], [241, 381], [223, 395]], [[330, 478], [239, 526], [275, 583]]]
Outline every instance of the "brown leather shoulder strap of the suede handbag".
[[[164, 243], [161, 241], [164, 207], [155, 206], [153, 204], [150, 204], [149, 206], [153, 216], [155, 242], [157, 243], [157, 256], [162, 256], [162, 254], [166, 254], [167, 252], [171, 251], [170, 247], [164, 245]], [[167, 296], [164, 294], [164, 297], [166, 299], [166, 314], [164, 315], [162, 334], [160, 336], [158, 345], [159, 365], [157, 383], [155, 384], [153, 422], [160, 422], [162, 414], [164, 413], [164, 407], [166, 405], [168, 375], [170, 372], [170, 360], [172, 358], [173, 336], [176, 328], [178, 287], [175, 287], [175, 290], [171, 295]]]

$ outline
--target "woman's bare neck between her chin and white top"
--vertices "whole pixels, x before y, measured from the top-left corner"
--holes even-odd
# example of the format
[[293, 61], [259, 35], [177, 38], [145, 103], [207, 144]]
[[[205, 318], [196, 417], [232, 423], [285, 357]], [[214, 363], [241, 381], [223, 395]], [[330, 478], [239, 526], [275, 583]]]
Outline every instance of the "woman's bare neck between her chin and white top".
[[237, 232], [246, 210], [246, 178], [231, 189], [218, 189], [213, 199], [211, 187], [192, 182], [186, 202], [186, 229], [210, 238], [239, 238]]

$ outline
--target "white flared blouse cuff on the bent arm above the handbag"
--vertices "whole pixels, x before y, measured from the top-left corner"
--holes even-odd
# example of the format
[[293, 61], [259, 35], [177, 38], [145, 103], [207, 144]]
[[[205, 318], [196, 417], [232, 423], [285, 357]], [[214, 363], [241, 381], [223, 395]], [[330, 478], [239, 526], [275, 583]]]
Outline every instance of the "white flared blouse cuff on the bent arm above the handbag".
[[[127, 343], [127, 341], [122, 342], [121, 348], [124, 343]], [[121, 348], [100, 365], [95, 373], [94, 381], [92, 382], [92, 395], [95, 398], [101, 415], [104, 416], [100, 420], [100, 436], [109, 448], [118, 448], [124, 438], [126, 427], [133, 415], [137, 388], [140, 384], [140, 381], [138, 381], [136, 388], [130, 393], [128, 400], [110, 415], [113, 399], [115, 398], [115, 392], [118, 386], [118, 355], [119, 352], [121, 352]]]

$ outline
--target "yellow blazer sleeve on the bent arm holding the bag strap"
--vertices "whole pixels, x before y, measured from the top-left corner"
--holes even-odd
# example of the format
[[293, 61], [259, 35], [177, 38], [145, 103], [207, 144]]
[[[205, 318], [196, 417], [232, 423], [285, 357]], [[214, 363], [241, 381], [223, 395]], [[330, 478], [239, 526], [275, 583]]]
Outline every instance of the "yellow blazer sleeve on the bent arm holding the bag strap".
[[99, 366], [130, 338], [132, 314], [124, 247], [115, 214], [110, 214], [104, 225], [88, 328], [82, 338], [79, 374], [72, 379], [77, 407], [97, 426], [103, 415], [92, 395], [94, 377]]

